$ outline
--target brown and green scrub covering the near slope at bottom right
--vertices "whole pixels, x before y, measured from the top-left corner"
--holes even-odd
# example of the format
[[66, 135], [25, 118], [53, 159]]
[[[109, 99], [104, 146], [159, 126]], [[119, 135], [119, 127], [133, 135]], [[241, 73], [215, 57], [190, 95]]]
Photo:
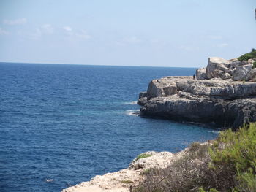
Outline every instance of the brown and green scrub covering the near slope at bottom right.
[[190, 145], [166, 169], [149, 169], [134, 191], [256, 191], [256, 123], [222, 131], [212, 145]]

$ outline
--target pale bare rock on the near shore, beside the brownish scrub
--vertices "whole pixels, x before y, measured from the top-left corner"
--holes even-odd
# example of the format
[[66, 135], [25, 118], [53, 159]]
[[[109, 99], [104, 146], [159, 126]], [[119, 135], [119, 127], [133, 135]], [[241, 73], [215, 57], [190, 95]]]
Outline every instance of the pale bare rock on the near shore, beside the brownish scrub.
[[[201, 145], [208, 145], [208, 143]], [[64, 189], [62, 192], [129, 192], [144, 182], [144, 173], [148, 169], [166, 168], [174, 161], [186, 155], [187, 150], [185, 149], [176, 154], [170, 152], [157, 153], [154, 151], [142, 153], [140, 155], [146, 155], [148, 157], [135, 158], [127, 169], [97, 175], [88, 182]]]

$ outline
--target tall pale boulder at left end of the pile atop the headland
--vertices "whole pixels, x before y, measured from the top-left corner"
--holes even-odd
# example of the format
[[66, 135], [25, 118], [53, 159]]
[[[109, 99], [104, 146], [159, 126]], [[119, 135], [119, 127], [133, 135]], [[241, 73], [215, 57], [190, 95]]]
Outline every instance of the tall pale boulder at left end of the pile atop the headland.
[[230, 62], [225, 60], [224, 58], [208, 58], [208, 65], [206, 67], [206, 77], [208, 79], [214, 77], [219, 78], [223, 73], [230, 72], [230, 69], [228, 69], [229, 66]]

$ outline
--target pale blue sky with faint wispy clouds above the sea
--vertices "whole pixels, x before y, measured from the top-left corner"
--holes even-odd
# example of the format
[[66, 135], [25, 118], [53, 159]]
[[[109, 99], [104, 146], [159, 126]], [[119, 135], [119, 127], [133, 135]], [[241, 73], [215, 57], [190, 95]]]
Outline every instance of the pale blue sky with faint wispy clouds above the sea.
[[203, 67], [256, 48], [256, 0], [0, 0], [0, 62]]

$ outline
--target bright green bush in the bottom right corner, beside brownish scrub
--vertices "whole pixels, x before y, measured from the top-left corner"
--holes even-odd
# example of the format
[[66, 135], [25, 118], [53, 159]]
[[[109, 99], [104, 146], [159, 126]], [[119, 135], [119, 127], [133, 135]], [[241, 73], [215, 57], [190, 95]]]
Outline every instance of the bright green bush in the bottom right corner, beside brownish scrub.
[[222, 172], [225, 181], [229, 181], [233, 189], [256, 191], [255, 123], [244, 126], [237, 132], [222, 131], [209, 153], [211, 169]]

